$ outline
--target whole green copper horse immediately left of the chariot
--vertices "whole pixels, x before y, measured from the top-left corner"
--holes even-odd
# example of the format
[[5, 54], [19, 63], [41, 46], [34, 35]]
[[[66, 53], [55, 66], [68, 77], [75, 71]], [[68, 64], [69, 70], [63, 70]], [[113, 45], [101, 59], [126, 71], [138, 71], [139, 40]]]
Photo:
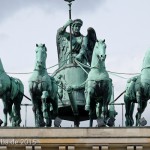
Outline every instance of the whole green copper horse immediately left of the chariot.
[[[45, 44], [36, 44], [36, 62], [32, 76], [29, 79], [29, 92], [33, 103], [35, 126], [51, 126], [52, 104], [54, 117], [58, 114], [58, 87], [53, 77], [46, 69], [47, 48]], [[43, 118], [44, 117], [44, 118]], [[44, 122], [46, 121], [46, 124]]]

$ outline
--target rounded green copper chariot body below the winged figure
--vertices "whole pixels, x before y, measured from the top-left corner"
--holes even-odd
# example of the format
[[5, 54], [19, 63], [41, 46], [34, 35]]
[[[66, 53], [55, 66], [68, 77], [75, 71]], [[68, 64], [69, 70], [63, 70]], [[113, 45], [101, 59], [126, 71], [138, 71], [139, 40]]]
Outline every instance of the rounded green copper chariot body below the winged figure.
[[[85, 111], [84, 86], [78, 89], [67, 89], [67, 86], [82, 85], [87, 79], [87, 74], [76, 64], [66, 64], [59, 68], [54, 76], [61, 76], [61, 84], [58, 83], [58, 110], [60, 118], [69, 121], [88, 120], [88, 112]], [[61, 93], [62, 92], [62, 93]], [[74, 117], [73, 117], [74, 116]]]

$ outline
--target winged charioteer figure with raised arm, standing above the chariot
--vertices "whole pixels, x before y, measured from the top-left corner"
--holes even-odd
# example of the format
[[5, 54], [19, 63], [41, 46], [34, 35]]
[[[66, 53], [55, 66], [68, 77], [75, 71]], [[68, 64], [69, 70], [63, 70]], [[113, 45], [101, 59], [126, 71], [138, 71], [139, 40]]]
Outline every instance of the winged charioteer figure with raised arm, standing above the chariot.
[[[96, 33], [93, 28], [88, 28], [87, 36], [83, 36], [80, 33], [80, 28], [83, 24], [81, 19], [71, 20], [69, 19], [67, 23], [58, 29], [56, 42], [58, 50], [58, 60], [59, 67], [70, 63], [69, 57], [72, 59], [77, 59], [78, 61], [87, 64], [91, 63], [91, 57], [93, 48], [96, 42]], [[66, 28], [71, 25], [71, 41], [70, 33], [66, 32]], [[70, 42], [72, 43], [72, 50], [70, 55]]]

